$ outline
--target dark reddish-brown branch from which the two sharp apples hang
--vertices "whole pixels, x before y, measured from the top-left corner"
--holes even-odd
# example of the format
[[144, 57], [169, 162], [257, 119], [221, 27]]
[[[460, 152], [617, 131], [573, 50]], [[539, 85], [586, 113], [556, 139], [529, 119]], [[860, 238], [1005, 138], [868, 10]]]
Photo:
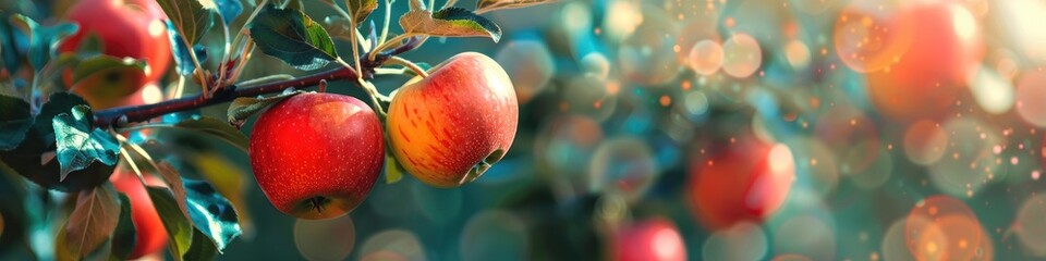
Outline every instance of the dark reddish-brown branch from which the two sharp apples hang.
[[[250, 84], [244, 86], [229, 85], [226, 88], [218, 89], [214, 95], [199, 94], [192, 97], [166, 100], [153, 104], [118, 107], [98, 110], [95, 111], [94, 122], [96, 127], [119, 127], [129, 123], [149, 121], [150, 119], [168, 113], [230, 102], [240, 97], [256, 97], [267, 94], [278, 94], [288, 88], [303, 89], [319, 85], [320, 82], [324, 80], [331, 82], [340, 79], [357, 79], [360, 76], [363, 76], [365, 79], [370, 79], [374, 78], [374, 70], [384, 64], [389, 58], [414, 50], [419, 46], [419, 38], [412, 37], [409, 38], [402, 46], [388, 51], [380, 51], [380, 53], [376, 55], [378, 58], [377, 60], [361, 60], [360, 65], [362, 66], [363, 72], [356, 72], [352, 67], [340, 66], [313, 75], [306, 75], [285, 80]], [[363, 55], [370, 55], [370, 53], [364, 53]], [[352, 82], [355, 83], [355, 80]]]

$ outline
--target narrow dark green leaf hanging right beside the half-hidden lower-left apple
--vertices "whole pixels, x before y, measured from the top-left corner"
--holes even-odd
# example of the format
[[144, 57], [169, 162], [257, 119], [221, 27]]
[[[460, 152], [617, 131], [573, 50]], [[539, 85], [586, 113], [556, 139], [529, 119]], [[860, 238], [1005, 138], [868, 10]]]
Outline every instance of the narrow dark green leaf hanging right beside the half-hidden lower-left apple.
[[182, 260], [182, 254], [188, 251], [193, 237], [193, 224], [185, 219], [184, 212], [178, 207], [178, 201], [171, 190], [162, 187], [146, 186], [145, 190], [153, 199], [153, 207], [160, 215], [163, 228], [167, 229], [168, 247], [175, 260]]

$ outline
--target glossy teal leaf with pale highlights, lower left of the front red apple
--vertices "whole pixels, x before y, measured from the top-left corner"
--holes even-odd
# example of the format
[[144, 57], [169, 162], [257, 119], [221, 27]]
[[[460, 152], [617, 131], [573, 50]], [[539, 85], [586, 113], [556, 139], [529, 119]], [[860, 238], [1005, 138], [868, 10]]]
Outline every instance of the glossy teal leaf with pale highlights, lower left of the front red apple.
[[242, 233], [236, 211], [210, 184], [184, 177], [182, 182], [190, 217], [220, 252]]

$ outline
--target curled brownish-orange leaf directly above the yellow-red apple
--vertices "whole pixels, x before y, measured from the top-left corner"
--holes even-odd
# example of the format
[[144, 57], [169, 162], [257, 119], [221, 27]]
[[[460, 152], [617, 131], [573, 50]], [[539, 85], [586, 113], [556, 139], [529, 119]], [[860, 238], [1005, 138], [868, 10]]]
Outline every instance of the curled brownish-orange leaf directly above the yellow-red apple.
[[400, 17], [403, 34], [442, 37], [489, 37], [501, 39], [501, 27], [489, 20], [461, 8], [447, 8], [436, 13], [410, 11]]

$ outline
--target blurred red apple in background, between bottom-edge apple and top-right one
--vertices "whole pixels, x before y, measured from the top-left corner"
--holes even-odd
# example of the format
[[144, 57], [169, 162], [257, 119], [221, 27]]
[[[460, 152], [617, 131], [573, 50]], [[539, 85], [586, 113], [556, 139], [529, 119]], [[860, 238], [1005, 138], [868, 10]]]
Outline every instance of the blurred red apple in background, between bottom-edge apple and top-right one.
[[791, 150], [753, 136], [710, 148], [711, 158], [691, 161], [688, 198], [708, 228], [762, 222], [784, 203], [795, 178]]

